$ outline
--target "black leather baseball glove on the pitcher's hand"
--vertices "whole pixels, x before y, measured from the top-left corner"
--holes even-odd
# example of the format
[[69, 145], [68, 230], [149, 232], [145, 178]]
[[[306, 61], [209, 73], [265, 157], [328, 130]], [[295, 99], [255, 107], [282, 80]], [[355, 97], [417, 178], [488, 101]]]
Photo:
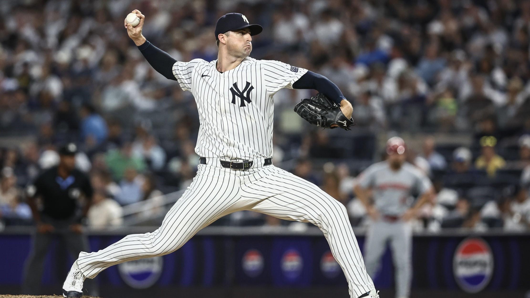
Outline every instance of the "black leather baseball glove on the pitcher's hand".
[[337, 127], [331, 127], [331, 124], [337, 124], [342, 129], [351, 130], [349, 127], [355, 125], [354, 119], [347, 119], [340, 106], [322, 93], [303, 99], [295, 105], [295, 112], [307, 122], [322, 128], [334, 129]]

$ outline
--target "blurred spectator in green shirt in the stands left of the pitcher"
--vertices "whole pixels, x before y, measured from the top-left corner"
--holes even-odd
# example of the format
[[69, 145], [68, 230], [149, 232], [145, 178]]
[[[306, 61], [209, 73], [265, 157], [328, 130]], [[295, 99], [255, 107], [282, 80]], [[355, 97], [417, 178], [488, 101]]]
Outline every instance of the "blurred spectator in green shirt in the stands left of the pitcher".
[[132, 151], [133, 145], [130, 142], [123, 144], [120, 149], [108, 151], [105, 156], [105, 162], [114, 180], [121, 180], [127, 168], [133, 168], [140, 173], [145, 170], [146, 165], [142, 157], [133, 156]]

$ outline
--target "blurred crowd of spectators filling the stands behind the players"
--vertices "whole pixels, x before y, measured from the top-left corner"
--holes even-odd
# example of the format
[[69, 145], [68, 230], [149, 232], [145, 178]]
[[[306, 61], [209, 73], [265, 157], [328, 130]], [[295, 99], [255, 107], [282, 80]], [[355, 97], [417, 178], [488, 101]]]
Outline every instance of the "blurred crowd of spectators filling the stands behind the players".
[[[425, 137], [408, 150], [438, 193], [418, 229], [528, 227], [530, 2], [523, 0], [2, 1], [4, 224], [31, 222], [22, 189], [57, 163], [55, 150], [66, 142], [82, 148], [76, 162], [96, 189], [92, 214], [106, 214], [94, 215], [94, 226], [119, 225], [122, 206], [190, 184], [195, 101], [128, 38], [123, 19], [134, 9], [146, 15], [147, 40], [179, 61], [216, 59], [218, 17], [243, 13], [264, 28], [251, 57], [337, 84], [354, 105], [354, 131], [308, 129], [292, 107], [313, 91], [280, 91], [273, 163], [294, 161], [286, 167], [346, 204], [352, 223], [365, 222], [351, 192], [355, 176], [384, 158], [377, 136], [409, 133], [469, 140]], [[222, 223], [288, 224], [257, 214]]]

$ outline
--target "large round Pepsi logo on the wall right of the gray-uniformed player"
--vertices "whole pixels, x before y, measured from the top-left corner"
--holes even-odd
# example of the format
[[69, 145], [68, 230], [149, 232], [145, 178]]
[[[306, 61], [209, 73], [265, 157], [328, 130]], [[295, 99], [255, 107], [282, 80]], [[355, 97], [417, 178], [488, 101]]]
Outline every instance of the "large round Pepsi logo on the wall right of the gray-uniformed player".
[[488, 243], [480, 238], [462, 240], [453, 258], [453, 272], [462, 290], [482, 291], [493, 274], [493, 254]]

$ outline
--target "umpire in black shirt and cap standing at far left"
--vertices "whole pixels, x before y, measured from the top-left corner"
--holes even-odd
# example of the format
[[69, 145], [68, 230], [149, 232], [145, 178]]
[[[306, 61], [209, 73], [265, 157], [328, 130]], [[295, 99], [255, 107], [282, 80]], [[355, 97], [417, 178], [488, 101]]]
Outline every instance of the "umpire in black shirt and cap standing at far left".
[[[93, 189], [89, 177], [75, 168], [76, 153], [74, 143], [61, 147], [59, 165], [41, 173], [27, 188], [37, 231], [25, 264], [23, 294], [42, 294], [39, 291], [44, 261], [54, 235], [63, 238], [74, 260], [81, 251], [90, 251], [82, 222], [89, 211]], [[41, 199], [41, 204], [37, 204], [37, 198]], [[87, 286], [91, 287], [90, 281]]]

